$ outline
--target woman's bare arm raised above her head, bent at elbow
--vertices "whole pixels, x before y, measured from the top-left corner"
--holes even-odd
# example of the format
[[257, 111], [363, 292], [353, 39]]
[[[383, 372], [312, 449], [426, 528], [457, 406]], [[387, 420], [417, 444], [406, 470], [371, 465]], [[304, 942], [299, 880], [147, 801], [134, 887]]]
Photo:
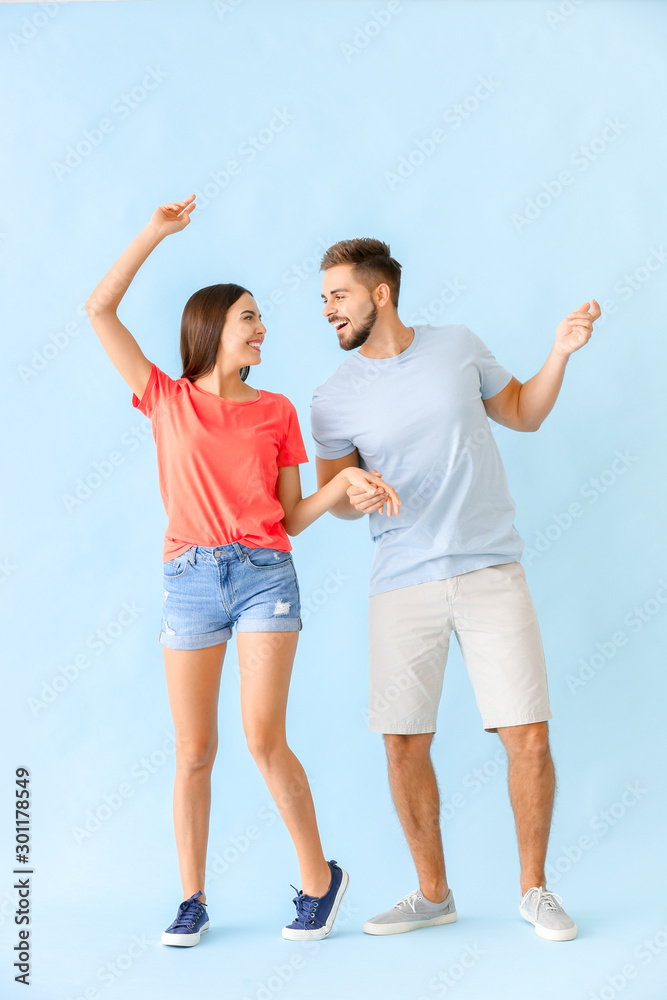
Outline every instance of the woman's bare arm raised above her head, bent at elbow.
[[165, 236], [180, 232], [187, 226], [190, 213], [195, 207], [194, 198], [194, 195], [190, 195], [185, 201], [156, 208], [148, 225], [107, 271], [86, 302], [88, 318], [102, 347], [140, 399], [148, 383], [151, 363], [130, 331], [118, 319], [116, 309], [151, 251]]

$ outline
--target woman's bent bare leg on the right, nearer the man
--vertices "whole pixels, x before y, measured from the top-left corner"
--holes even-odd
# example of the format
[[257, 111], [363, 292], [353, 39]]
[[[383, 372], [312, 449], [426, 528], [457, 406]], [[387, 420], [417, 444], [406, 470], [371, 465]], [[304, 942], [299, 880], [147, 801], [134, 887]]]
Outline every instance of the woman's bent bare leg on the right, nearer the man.
[[248, 748], [294, 841], [301, 889], [323, 896], [331, 871], [322, 852], [303, 767], [287, 745], [285, 713], [298, 632], [238, 632], [241, 712]]

